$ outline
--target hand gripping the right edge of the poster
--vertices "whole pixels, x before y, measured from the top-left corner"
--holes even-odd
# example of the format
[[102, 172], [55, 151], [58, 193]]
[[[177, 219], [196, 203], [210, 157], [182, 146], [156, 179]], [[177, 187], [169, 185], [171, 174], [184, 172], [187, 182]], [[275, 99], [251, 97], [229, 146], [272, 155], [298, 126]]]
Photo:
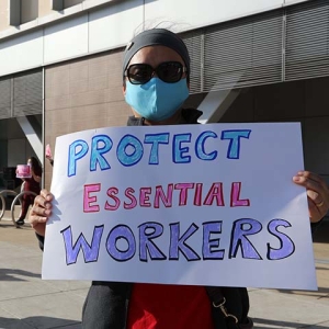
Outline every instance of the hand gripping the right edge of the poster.
[[319, 222], [329, 209], [329, 189], [326, 182], [318, 174], [309, 171], [299, 171], [293, 181], [306, 188], [310, 222]]

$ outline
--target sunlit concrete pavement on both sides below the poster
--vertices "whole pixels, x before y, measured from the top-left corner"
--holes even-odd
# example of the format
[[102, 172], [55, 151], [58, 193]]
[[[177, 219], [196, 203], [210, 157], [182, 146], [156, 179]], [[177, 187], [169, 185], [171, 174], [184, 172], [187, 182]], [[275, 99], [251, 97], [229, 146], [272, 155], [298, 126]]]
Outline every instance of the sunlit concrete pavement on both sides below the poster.
[[[42, 252], [34, 231], [29, 225], [15, 228], [8, 212], [0, 222], [0, 250], [1, 329], [81, 328], [90, 282], [41, 280]], [[328, 219], [315, 235], [314, 251], [317, 292], [249, 290], [256, 328], [329, 328]]]

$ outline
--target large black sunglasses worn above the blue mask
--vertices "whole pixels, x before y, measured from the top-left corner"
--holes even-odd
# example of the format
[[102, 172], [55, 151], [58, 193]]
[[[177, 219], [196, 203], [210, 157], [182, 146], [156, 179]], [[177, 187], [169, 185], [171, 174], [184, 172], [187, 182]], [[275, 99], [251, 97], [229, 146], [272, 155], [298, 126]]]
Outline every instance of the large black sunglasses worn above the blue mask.
[[162, 81], [174, 83], [181, 80], [186, 70], [186, 67], [179, 61], [164, 61], [155, 69], [148, 64], [132, 64], [126, 69], [125, 77], [127, 77], [133, 84], [144, 84], [148, 82], [156, 72], [158, 78]]

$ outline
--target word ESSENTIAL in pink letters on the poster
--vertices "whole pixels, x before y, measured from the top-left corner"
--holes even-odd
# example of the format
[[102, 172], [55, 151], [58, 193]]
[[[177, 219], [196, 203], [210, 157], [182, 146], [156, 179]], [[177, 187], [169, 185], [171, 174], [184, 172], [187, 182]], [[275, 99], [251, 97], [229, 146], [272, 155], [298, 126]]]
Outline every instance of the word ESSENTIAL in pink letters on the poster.
[[[229, 186], [229, 206], [249, 206], [249, 198], [240, 198], [241, 182], [234, 182]], [[99, 204], [99, 194], [106, 193], [106, 201]], [[134, 209], [135, 207], [172, 207], [172, 206], [225, 206], [224, 184], [214, 182], [207, 189], [203, 183], [175, 183], [167, 186], [146, 186], [138, 190], [126, 188], [120, 191], [112, 186], [103, 190], [101, 183], [83, 186], [83, 212], [97, 213], [102, 207], [105, 211]]]

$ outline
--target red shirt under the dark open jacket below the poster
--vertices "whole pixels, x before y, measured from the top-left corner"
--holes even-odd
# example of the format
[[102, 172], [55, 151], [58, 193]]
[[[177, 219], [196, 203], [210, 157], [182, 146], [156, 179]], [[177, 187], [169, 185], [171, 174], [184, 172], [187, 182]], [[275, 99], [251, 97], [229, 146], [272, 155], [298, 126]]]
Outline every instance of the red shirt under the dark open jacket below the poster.
[[127, 329], [214, 329], [203, 286], [135, 283]]

